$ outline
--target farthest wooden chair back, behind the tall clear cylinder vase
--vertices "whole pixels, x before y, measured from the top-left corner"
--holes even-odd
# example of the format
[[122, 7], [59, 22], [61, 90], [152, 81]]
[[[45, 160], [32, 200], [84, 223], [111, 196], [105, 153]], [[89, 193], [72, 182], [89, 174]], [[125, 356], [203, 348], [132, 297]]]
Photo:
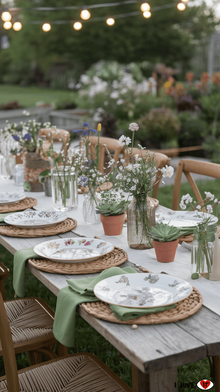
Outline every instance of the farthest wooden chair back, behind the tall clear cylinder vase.
[[[56, 130], [58, 132], [56, 132]], [[51, 133], [51, 131], [52, 131], [52, 133]], [[53, 131], [55, 131], [55, 132], [53, 132]], [[69, 136], [70, 136], [69, 131], [65, 131], [65, 129], [58, 129], [58, 128], [57, 129], [49, 129], [49, 128], [39, 129], [38, 138], [40, 139], [43, 135], [46, 136], [46, 140], [43, 142], [44, 152], [46, 152], [49, 149], [49, 147], [51, 146], [51, 137], [49, 136], [49, 133], [51, 133], [53, 140], [62, 139], [63, 145], [62, 145], [61, 151], [62, 151], [62, 149], [64, 149], [65, 157], [67, 157], [67, 150], [69, 148], [69, 145], [67, 145], [67, 142], [68, 142]], [[38, 152], [38, 151], [39, 151], [39, 149], [36, 149], [36, 152]]]

